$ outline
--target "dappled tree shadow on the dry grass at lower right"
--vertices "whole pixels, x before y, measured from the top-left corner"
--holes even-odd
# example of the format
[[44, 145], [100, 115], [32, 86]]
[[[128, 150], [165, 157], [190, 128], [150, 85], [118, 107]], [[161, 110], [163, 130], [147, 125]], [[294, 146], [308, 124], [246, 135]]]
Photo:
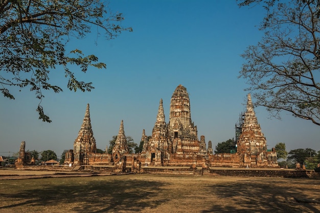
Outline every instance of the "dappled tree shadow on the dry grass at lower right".
[[319, 183], [287, 180], [240, 180], [208, 186], [208, 193], [219, 199], [201, 212], [320, 212]]

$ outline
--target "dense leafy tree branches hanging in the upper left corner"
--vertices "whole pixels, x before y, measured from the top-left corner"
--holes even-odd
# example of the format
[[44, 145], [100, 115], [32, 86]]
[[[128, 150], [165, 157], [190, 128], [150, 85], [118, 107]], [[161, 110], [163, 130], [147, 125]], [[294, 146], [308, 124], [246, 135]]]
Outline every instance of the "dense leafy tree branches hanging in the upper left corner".
[[[67, 79], [67, 88], [90, 91], [92, 82], [79, 81], [77, 72], [86, 73], [89, 66], [106, 68], [94, 55], [85, 56], [75, 48], [66, 52], [67, 42], [84, 38], [91, 29], [102, 30], [107, 39], [115, 38], [131, 28], [120, 26], [121, 13], [106, 11], [100, 0], [20, 0], [0, 3], [0, 91], [15, 99], [9, 86], [26, 88], [39, 100], [39, 119], [51, 122], [40, 105], [44, 90], [62, 92], [50, 81], [52, 70]], [[97, 31], [97, 34], [101, 34]], [[79, 67], [79, 68], [76, 68]]]

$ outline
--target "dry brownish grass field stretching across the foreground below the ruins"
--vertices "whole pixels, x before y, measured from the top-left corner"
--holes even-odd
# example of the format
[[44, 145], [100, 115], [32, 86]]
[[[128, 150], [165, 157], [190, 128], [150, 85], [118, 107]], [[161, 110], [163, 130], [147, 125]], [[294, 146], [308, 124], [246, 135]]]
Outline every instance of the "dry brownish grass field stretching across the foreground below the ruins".
[[0, 181], [0, 212], [320, 212], [315, 179], [112, 175]]

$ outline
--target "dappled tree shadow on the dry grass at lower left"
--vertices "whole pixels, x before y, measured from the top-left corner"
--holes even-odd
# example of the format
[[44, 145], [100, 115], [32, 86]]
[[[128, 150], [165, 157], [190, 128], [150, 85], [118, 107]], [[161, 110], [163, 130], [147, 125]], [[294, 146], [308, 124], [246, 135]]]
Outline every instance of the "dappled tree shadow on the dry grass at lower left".
[[52, 179], [45, 180], [48, 180], [48, 184], [42, 188], [31, 187], [29, 189], [26, 187], [24, 189], [21, 187], [19, 193], [15, 194], [0, 192], [2, 199], [0, 212], [7, 212], [6, 209], [13, 210], [13, 212], [21, 209], [21, 212], [27, 211], [27, 209], [28, 211], [42, 210], [43, 212], [63, 212], [62, 209], [66, 209], [65, 212], [126, 210], [139, 212], [146, 207], [154, 208], [167, 200], [166, 198], [148, 199], [150, 195], [157, 196], [163, 191], [160, 188], [163, 183], [156, 181], [74, 178], [75, 182], [63, 183], [64, 179], [62, 178], [60, 184], [50, 185]]

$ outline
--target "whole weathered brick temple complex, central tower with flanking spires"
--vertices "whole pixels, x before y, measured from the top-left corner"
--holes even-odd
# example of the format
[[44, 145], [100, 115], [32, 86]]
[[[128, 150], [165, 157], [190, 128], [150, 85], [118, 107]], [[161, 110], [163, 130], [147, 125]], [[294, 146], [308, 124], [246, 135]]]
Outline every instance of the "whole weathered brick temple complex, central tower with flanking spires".
[[141, 141], [143, 150], [129, 154], [121, 121], [116, 144], [112, 154], [96, 153], [96, 140], [90, 123], [89, 104], [74, 149], [66, 153], [65, 163], [78, 165], [115, 164], [126, 159], [127, 165], [188, 166], [208, 167], [278, 167], [277, 153], [268, 151], [266, 139], [261, 132], [250, 94], [243, 123], [237, 129], [237, 151], [235, 153], [213, 154], [212, 143], [208, 149], [205, 137], [197, 135], [197, 126], [191, 120], [190, 99], [187, 89], [179, 85], [174, 90], [170, 102], [169, 123], [165, 121], [162, 99], [159, 102], [152, 135], [143, 130]]

